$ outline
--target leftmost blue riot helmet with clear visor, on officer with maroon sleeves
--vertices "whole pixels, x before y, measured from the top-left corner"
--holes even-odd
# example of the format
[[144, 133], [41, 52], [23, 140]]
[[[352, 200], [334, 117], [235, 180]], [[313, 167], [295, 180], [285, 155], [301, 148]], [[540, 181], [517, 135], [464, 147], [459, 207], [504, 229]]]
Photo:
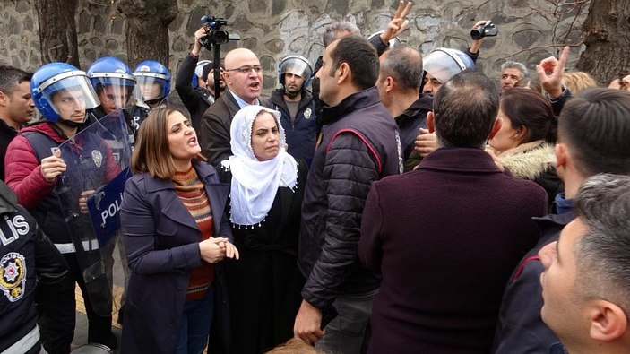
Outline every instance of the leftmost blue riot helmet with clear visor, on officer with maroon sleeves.
[[[82, 124], [85, 110], [100, 104], [88, 74], [65, 63], [41, 65], [30, 79], [30, 93], [39, 113], [50, 122]], [[73, 119], [79, 115], [82, 122]]]

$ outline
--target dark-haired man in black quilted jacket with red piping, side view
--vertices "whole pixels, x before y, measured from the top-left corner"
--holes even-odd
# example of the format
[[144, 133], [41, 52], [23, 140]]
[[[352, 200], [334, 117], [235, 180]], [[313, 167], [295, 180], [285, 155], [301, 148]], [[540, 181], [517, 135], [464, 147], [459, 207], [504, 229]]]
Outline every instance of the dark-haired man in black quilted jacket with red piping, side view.
[[317, 77], [328, 107], [306, 180], [298, 257], [306, 285], [294, 332], [320, 350], [358, 353], [380, 285], [358, 263], [361, 212], [372, 182], [401, 173], [400, 136], [374, 87], [378, 56], [367, 39], [332, 42]]

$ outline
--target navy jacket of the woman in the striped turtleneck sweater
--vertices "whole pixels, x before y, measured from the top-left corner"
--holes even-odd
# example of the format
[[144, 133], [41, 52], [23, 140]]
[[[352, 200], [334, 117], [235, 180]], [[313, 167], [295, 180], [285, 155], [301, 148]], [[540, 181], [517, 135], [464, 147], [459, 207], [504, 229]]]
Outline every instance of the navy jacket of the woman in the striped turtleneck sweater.
[[[215, 237], [232, 239], [225, 216], [229, 185], [219, 183], [210, 165], [194, 165], [214, 219]], [[148, 173], [134, 175], [125, 185], [120, 220], [132, 271], [127, 289], [122, 353], [164, 353], [175, 350], [186, 302], [190, 272], [202, 264], [201, 231], [181, 202], [170, 180]], [[215, 324], [229, 339], [229, 311], [221, 264], [215, 264]], [[222, 322], [222, 323], [220, 323]], [[125, 329], [128, 329], [125, 331]]]

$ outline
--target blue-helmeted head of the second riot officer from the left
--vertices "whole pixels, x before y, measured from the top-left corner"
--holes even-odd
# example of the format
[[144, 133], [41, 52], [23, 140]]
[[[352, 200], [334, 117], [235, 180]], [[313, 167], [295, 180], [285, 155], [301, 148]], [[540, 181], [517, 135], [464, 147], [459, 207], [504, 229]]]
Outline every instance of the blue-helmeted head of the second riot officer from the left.
[[134, 74], [117, 57], [99, 58], [88, 68], [88, 76], [106, 113], [133, 106]]

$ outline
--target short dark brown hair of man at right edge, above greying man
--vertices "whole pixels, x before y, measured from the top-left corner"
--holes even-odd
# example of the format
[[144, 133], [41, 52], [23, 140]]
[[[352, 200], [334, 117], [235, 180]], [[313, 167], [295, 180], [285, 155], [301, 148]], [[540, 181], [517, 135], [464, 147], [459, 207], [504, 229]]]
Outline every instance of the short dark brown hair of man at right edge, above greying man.
[[584, 177], [630, 174], [630, 92], [608, 88], [581, 91], [565, 103], [558, 139], [572, 151]]

